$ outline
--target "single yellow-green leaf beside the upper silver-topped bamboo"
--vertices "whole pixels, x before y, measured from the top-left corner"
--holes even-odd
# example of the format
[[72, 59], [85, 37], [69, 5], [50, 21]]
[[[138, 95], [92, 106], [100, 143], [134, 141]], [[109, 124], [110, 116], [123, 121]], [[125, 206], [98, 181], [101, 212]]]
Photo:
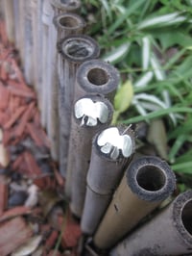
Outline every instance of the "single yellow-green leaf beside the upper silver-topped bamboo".
[[118, 113], [125, 112], [132, 103], [133, 89], [132, 83], [128, 80], [119, 88], [114, 98], [114, 109]]

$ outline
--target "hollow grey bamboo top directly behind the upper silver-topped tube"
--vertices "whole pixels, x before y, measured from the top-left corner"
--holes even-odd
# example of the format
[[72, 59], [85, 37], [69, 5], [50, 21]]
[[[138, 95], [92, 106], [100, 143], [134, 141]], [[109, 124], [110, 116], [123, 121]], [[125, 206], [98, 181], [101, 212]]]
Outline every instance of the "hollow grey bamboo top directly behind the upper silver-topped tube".
[[74, 98], [84, 93], [100, 93], [112, 100], [118, 84], [119, 73], [111, 64], [101, 60], [87, 61], [78, 68]]

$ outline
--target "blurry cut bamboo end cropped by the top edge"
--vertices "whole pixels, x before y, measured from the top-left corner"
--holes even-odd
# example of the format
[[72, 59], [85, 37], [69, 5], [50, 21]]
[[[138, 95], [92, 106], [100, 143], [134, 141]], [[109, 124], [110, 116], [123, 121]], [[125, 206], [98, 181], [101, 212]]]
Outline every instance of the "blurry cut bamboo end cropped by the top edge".
[[61, 12], [77, 12], [81, 8], [79, 0], [52, 0], [52, 5]]

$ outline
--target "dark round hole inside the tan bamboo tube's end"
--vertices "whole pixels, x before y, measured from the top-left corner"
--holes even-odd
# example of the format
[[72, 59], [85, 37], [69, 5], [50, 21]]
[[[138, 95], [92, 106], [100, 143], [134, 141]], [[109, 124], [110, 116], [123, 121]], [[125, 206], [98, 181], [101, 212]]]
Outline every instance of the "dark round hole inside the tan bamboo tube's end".
[[165, 185], [164, 172], [157, 166], [142, 166], [137, 173], [138, 185], [150, 192], [156, 192]]

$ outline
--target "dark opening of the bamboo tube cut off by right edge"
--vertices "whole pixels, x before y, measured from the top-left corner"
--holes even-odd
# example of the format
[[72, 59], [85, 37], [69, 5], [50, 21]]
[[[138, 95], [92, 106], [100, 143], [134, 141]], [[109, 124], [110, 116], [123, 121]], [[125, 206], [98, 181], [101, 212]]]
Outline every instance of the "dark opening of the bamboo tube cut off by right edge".
[[184, 205], [181, 212], [181, 220], [184, 228], [192, 235], [192, 200]]

